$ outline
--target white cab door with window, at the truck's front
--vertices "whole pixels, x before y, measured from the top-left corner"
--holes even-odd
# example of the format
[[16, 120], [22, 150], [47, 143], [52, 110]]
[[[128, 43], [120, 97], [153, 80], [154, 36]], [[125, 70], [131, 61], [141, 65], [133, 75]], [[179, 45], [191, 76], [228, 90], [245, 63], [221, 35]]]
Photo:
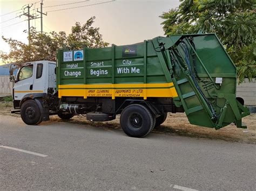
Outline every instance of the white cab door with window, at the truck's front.
[[14, 100], [16, 102], [21, 101], [26, 94], [31, 93], [35, 76], [34, 69], [33, 64], [24, 65], [19, 69], [14, 85]]

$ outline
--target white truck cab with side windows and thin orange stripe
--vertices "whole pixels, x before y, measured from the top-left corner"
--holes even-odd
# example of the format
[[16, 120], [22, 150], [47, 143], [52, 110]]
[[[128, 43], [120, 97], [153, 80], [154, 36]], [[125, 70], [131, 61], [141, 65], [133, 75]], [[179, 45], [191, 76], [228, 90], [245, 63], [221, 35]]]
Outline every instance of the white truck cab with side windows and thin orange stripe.
[[56, 62], [41, 60], [22, 64], [13, 88], [14, 108], [20, 109], [24, 98], [42, 96], [49, 90], [56, 91]]

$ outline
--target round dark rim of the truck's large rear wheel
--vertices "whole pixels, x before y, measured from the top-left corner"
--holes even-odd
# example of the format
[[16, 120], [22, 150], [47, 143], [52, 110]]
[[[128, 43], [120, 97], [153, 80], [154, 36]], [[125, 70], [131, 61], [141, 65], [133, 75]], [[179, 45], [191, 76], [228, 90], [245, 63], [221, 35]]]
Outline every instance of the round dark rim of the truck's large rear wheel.
[[127, 119], [127, 126], [133, 131], [142, 129], [143, 117], [138, 112], [132, 112]]

